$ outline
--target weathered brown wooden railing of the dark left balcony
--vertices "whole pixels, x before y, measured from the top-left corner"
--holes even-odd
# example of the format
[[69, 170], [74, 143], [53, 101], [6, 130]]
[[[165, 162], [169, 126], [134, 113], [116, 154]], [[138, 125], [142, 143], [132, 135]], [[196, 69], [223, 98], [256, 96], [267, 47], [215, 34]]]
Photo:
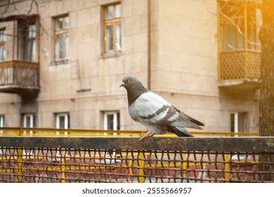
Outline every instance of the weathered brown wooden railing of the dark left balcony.
[[0, 92], [37, 93], [39, 91], [39, 63], [27, 61], [0, 62]]

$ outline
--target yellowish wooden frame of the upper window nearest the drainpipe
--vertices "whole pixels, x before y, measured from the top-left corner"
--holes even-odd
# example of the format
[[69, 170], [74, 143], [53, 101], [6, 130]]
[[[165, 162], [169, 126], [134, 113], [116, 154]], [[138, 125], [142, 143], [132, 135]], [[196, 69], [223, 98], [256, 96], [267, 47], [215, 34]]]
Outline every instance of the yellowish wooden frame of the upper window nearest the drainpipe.
[[[122, 11], [119, 17], [116, 17], [116, 6], [120, 5], [122, 10], [122, 4], [120, 1], [113, 4], [107, 4], [103, 6], [103, 53], [113, 53], [117, 51], [122, 51]], [[107, 19], [107, 8], [113, 6], [113, 18]], [[116, 40], [117, 40], [117, 23], [120, 23], [120, 43], [119, 48], [117, 49]], [[107, 49], [107, 25], [112, 24], [112, 50]]]

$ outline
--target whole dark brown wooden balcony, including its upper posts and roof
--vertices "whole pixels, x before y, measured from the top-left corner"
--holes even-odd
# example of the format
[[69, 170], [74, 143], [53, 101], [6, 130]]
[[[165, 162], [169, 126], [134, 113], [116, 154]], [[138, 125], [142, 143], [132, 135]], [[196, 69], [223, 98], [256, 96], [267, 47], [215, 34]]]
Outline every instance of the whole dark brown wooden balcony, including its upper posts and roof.
[[39, 15], [0, 18], [0, 93], [39, 91]]

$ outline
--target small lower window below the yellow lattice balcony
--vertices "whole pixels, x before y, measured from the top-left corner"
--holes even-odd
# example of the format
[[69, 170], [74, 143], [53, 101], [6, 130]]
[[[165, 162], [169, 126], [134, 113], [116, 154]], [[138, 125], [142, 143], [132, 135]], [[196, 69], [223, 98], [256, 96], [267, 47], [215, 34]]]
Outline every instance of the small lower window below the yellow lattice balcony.
[[247, 130], [247, 113], [231, 113], [231, 132], [243, 133]]

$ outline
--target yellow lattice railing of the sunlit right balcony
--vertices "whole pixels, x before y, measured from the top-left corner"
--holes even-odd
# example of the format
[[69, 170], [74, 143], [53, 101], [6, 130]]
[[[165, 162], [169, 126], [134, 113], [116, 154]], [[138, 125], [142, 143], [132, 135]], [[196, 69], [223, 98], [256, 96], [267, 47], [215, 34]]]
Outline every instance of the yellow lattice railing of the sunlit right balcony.
[[261, 56], [259, 51], [225, 51], [220, 53], [221, 84], [254, 84], [259, 87]]

